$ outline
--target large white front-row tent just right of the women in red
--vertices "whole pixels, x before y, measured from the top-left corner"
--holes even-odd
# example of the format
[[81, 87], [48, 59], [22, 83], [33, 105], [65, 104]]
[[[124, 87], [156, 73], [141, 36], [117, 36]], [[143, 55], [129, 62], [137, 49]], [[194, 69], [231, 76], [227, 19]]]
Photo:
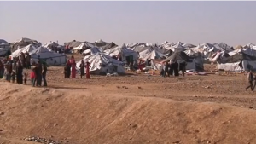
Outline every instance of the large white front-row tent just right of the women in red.
[[[90, 72], [94, 72], [96, 74], [106, 74], [112, 72], [125, 73], [124, 63], [115, 60], [109, 55], [105, 55], [102, 53], [96, 53], [93, 55], [88, 55], [84, 57], [84, 64], [86, 62], [90, 63]], [[77, 63], [77, 70], [80, 69], [81, 60]]]

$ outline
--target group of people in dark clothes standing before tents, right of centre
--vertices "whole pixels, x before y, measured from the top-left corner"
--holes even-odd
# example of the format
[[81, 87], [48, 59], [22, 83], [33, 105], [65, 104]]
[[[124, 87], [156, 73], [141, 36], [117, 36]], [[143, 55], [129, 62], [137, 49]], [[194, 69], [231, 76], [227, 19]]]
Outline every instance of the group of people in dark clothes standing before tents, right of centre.
[[171, 60], [166, 61], [165, 64], [163, 64], [163, 67], [160, 71], [160, 75], [162, 77], [172, 77], [173, 75], [175, 77], [179, 76], [179, 71], [182, 71], [182, 75], [183, 77], [185, 76], [185, 71], [186, 71], [186, 62], [182, 62], [182, 63], [177, 63], [177, 60]]

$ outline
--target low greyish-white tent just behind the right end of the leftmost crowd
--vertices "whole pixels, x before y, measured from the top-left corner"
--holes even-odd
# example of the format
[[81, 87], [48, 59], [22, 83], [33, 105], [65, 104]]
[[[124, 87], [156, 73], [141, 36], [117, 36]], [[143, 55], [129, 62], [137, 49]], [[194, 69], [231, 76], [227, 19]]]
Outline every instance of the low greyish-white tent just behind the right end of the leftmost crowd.
[[58, 54], [44, 47], [39, 47], [30, 52], [32, 61], [37, 62], [39, 59], [44, 60], [49, 66], [58, 66], [65, 64], [67, 56], [65, 54]]

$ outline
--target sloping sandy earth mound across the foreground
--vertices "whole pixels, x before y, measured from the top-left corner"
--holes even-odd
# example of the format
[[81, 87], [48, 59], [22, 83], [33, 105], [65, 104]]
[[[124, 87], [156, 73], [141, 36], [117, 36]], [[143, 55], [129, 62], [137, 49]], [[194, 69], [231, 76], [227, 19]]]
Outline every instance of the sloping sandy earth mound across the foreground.
[[[90, 89], [1, 84], [0, 141], [39, 135], [64, 143], [256, 143], [255, 110]], [[69, 142], [67, 142], [69, 141]]]

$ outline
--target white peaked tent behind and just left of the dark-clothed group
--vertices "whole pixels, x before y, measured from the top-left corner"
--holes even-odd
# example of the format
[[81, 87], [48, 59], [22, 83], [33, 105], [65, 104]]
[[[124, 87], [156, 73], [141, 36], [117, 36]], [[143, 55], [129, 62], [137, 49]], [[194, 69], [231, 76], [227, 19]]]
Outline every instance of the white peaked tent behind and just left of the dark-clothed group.
[[140, 58], [142, 58], [143, 60], [147, 60], [147, 59], [154, 60], [154, 59], [162, 59], [167, 57], [166, 55], [160, 53], [160, 51], [153, 48], [143, 50], [139, 54], [140, 54]]

